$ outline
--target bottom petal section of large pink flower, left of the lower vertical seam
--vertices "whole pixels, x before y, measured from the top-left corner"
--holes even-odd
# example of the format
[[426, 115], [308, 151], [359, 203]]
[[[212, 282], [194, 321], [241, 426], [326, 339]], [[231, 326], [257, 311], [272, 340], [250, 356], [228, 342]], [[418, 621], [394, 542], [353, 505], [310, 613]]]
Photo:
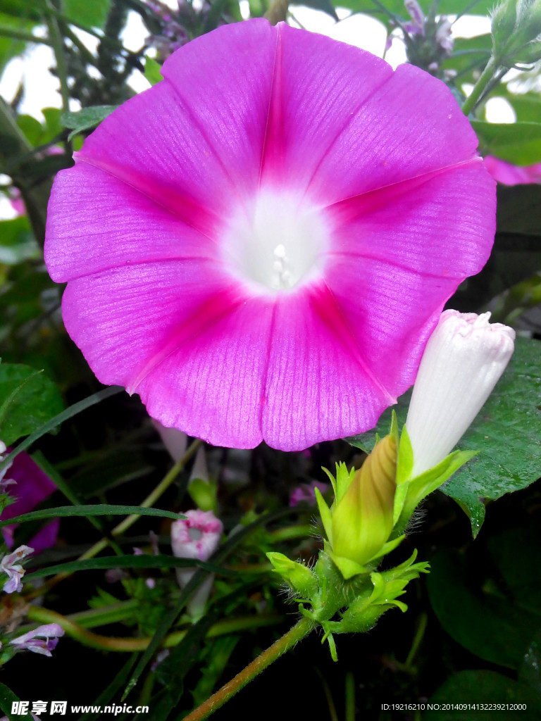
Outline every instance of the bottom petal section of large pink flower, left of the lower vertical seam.
[[149, 414], [215, 445], [257, 446], [272, 314], [273, 298], [245, 298], [179, 345], [137, 388]]

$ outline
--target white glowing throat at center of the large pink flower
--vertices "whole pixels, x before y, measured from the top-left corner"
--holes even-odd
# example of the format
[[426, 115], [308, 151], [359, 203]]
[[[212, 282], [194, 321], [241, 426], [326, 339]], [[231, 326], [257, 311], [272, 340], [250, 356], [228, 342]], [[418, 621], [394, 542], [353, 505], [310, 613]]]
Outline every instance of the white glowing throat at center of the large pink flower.
[[260, 191], [226, 226], [224, 260], [248, 285], [286, 291], [320, 275], [329, 236], [317, 208], [294, 195]]

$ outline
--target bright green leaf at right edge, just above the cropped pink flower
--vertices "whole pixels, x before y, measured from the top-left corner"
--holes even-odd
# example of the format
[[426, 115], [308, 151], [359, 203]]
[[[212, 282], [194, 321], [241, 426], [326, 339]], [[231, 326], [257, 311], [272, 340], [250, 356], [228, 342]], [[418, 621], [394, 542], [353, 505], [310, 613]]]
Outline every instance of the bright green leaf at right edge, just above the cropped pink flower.
[[515, 165], [541, 162], [541, 123], [472, 120], [483, 151]]

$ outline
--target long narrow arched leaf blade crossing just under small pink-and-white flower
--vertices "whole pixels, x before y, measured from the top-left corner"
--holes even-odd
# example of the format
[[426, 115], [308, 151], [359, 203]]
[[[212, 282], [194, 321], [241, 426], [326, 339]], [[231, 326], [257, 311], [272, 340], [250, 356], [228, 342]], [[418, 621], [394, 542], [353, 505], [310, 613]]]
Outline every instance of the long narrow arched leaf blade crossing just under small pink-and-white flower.
[[110, 556], [100, 558], [86, 558], [82, 561], [69, 561], [57, 563], [54, 566], [40, 568], [25, 575], [25, 580], [56, 576], [57, 573], [74, 573], [76, 571], [95, 571], [104, 568], [201, 568], [219, 575], [237, 576], [238, 571], [231, 571], [213, 563], [206, 563], [198, 559], [177, 558], [176, 556], [151, 556], [143, 554], [136, 556]]

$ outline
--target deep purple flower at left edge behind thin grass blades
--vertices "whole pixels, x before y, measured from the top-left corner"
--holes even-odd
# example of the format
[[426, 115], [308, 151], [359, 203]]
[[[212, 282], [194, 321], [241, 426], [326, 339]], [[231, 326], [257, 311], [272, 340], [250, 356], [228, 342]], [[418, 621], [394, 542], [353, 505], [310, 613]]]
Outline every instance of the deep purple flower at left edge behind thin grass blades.
[[[4, 446], [3, 443], [2, 446]], [[4, 451], [5, 449], [6, 447], [4, 446]], [[45, 498], [50, 496], [53, 491], [56, 491], [56, 485], [54, 485], [53, 481], [51, 481], [48, 475], [40, 469], [40, 466], [38, 466], [35, 461], [32, 461], [32, 458], [24, 452], [16, 456], [11, 466], [9, 466], [9, 480], [1, 479], [1, 482], [4, 483], [3, 488], [5, 488], [6, 485], [10, 485], [11, 482], [16, 484], [14, 487], [8, 489], [10, 495], [13, 495], [16, 500], [14, 503], [7, 505], [1, 512], [1, 521], [7, 521], [9, 518], [14, 518], [15, 516], [22, 516], [23, 513], [30, 513], [38, 503], [41, 503]], [[12, 526], [4, 526], [1, 529], [8, 548], [12, 548], [13, 546], [13, 536], [17, 525], [17, 523], [14, 523]], [[40, 553], [44, 549], [54, 546], [59, 527], [60, 519], [54, 518], [53, 521], [43, 526], [43, 528], [30, 539], [29, 543], [32, 548], [35, 549], [36, 553]]]

